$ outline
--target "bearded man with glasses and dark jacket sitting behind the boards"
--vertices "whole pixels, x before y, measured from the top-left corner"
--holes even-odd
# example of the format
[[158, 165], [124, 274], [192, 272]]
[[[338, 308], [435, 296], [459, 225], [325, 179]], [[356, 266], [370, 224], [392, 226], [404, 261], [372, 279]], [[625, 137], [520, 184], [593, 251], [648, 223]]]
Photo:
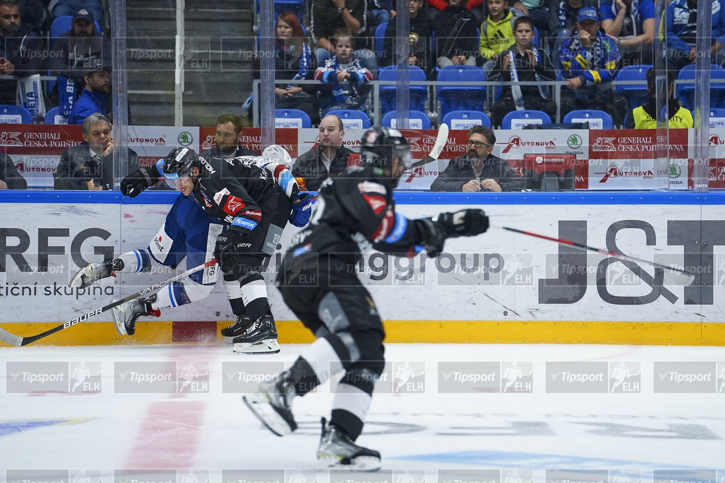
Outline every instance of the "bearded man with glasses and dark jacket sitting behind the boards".
[[473, 126], [468, 131], [468, 150], [465, 156], [451, 159], [431, 185], [434, 191], [518, 191], [523, 178], [508, 163], [491, 154], [496, 135], [485, 126]]

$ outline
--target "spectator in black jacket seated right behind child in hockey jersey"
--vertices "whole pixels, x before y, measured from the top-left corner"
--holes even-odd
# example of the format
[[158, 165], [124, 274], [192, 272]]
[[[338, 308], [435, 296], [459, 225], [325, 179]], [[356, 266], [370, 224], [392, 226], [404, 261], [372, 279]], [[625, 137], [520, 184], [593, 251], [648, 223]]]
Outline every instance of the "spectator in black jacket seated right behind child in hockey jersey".
[[[373, 34], [368, 32], [367, 17], [367, 0], [312, 0], [310, 25], [312, 36], [318, 41], [315, 51], [318, 67], [325, 65], [325, 61], [334, 54], [332, 38], [341, 28], [349, 30], [355, 41], [353, 45], [357, 41], [362, 43], [365, 35]], [[373, 76], [377, 74], [378, 61], [373, 51], [360, 48], [355, 51], [355, 55]]]

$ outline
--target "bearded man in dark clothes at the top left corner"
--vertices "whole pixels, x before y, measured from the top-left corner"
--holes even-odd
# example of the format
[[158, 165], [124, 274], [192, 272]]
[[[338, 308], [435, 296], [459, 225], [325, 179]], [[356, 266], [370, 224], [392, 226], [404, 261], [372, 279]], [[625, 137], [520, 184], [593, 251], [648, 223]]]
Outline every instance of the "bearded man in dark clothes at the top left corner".
[[[0, 75], [27, 77], [39, 74], [46, 57], [43, 40], [21, 23], [20, 9], [12, 1], [0, 2]], [[0, 80], [0, 104], [16, 103], [15, 79]]]

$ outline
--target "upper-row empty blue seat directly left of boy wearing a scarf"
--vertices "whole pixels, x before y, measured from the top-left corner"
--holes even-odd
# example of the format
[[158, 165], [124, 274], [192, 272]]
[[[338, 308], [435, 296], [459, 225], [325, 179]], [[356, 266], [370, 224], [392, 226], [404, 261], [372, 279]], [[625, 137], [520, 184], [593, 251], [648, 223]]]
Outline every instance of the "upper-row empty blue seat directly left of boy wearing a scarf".
[[[439, 82], [486, 81], [484, 71], [471, 65], [449, 65], [438, 72]], [[441, 101], [441, 116], [451, 111], [481, 111], [486, 101], [484, 85], [437, 85], [436, 96]]]

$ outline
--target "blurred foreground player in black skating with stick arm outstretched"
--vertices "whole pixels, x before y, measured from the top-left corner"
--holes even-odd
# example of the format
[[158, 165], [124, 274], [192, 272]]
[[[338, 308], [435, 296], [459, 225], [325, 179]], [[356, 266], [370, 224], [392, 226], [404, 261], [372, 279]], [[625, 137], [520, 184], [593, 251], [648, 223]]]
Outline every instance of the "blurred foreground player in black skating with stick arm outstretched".
[[299, 232], [284, 257], [277, 283], [284, 301], [317, 338], [293, 366], [244, 397], [275, 434], [297, 429], [292, 399], [344, 371], [329, 424], [317, 451], [322, 467], [363, 471], [380, 468], [380, 453], [355, 444], [363, 431], [373, 387], [382, 373], [384, 329], [370, 293], [357, 279], [360, 253], [376, 249], [437, 256], [446, 238], [472, 236], [488, 228], [479, 209], [434, 219], [409, 220], [395, 212], [392, 190], [410, 148], [399, 131], [368, 130], [360, 145], [363, 166], [348, 167], [320, 188], [311, 225]]

